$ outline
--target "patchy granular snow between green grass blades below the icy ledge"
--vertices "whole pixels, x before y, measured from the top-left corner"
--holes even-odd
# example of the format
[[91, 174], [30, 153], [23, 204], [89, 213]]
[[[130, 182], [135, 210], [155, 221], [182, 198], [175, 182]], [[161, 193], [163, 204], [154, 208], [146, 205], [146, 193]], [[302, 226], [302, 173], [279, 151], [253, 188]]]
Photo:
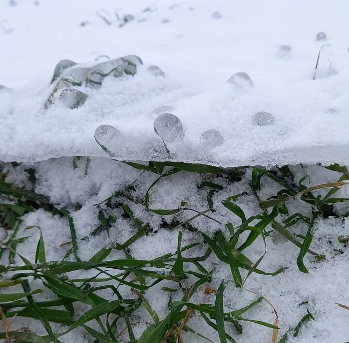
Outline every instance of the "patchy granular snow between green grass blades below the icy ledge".
[[[99, 225], [98, 209], [94, 206], [110, 196], [116, 191], [124, 191], [127, 185], [133, 183], [133, 190], [128, 195], [130, 199], [123, 198], [135, 215], [144, 223], [149, 222], [153, 231], [149, 235], [143, 236], [134, 244], [130, 245], [130, 254], [135, 259], [154, 259], [169, 252], [176, 251], [178, 230], [173, 228], [166, 228], [161, 225], [163, 220], [168, 223], [171, 222], [174, 216], [161, 217], [151, 212], [144, 210], [143, 205], [137, 204], [137, 199], [143, 199], [147, 187], [154, 180], [154, 175], [149, 172], [142, 173], [139, 170], [133, 169], [130, 166], [111, 161], [109, 159], [92, 158], [88, 172], [86, 173], [86, 159], [76, 160], [76, 167], [73, 166], [73, 158], [61, 158], [34, 163], [33, 165], [20, 165], [13, 167], [10, 163], [5, 165], [4, 172], [7, 173], [7, 181], [15, 182], [17, 185], [23, 185], [23, 180], [26, 179], [27, 167], [33, 167], [37, 171], [37, 184], [35, 191], [44, 193], [50, 196], [51, 200], [57, 204], [58, 207], [66, 206], [72, 213], [75, 228], [78, 236], [79, 257], [83, 261], [90, 259], [102, 246], [109, 246], [111, 242], [125, 242], [131, 237], [136, 229], [132, 225], [131, 220], [124, 218], [119, 209], [114, 209], [112, 214], [117, 217], [117, 221], [110, 229], [110, 238], [106, 232], [101, 232], [95, 236], [91, 232]], [[332, 182], [337, 180], [339, 173], [330, 172], [319, 166], [301, 166], [291, 167], [296, 180], [298, 180], [307, 173], [311, 175], [308, 184], [314, 185], [324, 182]], [[222, 222], [222, 225], [209, 220], [203, 216], [196, 218], [191, 222], [192, 226], [199, 231], [206, 232], [212, 235], [217, 229], [225, 231], [225, 223], [230, 221], [236, 227], [240, 224], [238, 218], [222, 206], [221, 201], [228, 196], [236, 195], [247, 191], [248, 194], [240, 197], [237, 204], [246, 213], [246, 216], [252, 216], [261, 212], [255, 197], [253, 196], [248, 183], [251, 180], [251, 170], [247, 170], [245, 176], [239, 182], [228, 182], [224, 177], [214, 177], [193, 173], [180, 172], [171, 177], [163, 178], [154, 191], [151, 193], [151, 206], [157, 208], [176, 208], [182, 201], [187, 202], [188, 207], [203, 211], [206, 209], [207, 190], [198, 189], [198, 185], [206, 181], [214, 181], [215, 183], [224, 186], [224, 189], [213, 196], [214, 209], [216, 212], [209, 213], [211, 217]], [[27, 175], [28, 177], [28, 175]], [[271, 194], [275, 194], [278, 189], [273, 184], [262, 179], [262, 191], [267, 190], [266, 194], [261, 194], [261, 197], [267, 198]], [[349, 190], [342, 188], [338, 196], [348, 197]], [[79, 210], [74, 211], [76, 203], [79, 202], [82, 206]], [[108, 211], [105, 205], [101, 205], [104, 211]], [[110, 210], [110, 209], [109, 209]], [[294, 203], [289, 205], [291, 212], [302, 212], [310, 215], [311, 207], [304, 205], [304, 202]], [[345, 212], [348, 211], [348, 206]], [[193, 215], [192, 212], [182, 212], [175, 215], [178, 221], [184, 221]], [[30, 236], [24, 243], [18, 244], [17, 252], [26, 257], [30, 261], [34, 261], [35, 246], [39, 239], [39, 230], [26, 230], [24, 228], [31, 225], [40, 226], [48, 261], [62, 260], [71, 245], [70, 231], [67, 220], [52, 216], [51, 213], [43, 210], [28, 213], [24, 216], [23, 224], [17, 234], [17, 238]], [[1, 230], [1, 228], [0, 228]], [[4, 229], [2, 229], [5, 231]], [[292, 227], [291, 231], [295, 234], [304, 235], [307, 228], [300, 224]], [[199, 232], [190, 232], [183, 229], [182, 245], [191, 242], [202, 242], [202, 237]], [[4, 232], [1, 232], [5, 236]], [[307, 322], [301, 327], [298, 337], [289, 335], [287, 343], [344, 343], [348, 341], [349, 313], [335, 303], [342, 303], [348, 305], [349, 288], [348, 288], [348, 263], [349, 263], [349, 248], [347, 245], [340, 244], [337, 237], [339, 235], [349, 235], [349, 222], [347, 218], [328, 218], [319, 219], [314, 228], [314, 241], [311, 248], [317, 252], [326, 255], [326, 261], [315, 262], [314, 258], [307, 254], [304, 258], [304, 263], [309, 268], [309, 274], [301, 273], [296, 265], [296, 259], [299, 254], [299, 248], [286, 241], [276, 232], [266, 237], [267, 254], [264, 257], [259, 268], [268, 272], [275, 271], [280, 267], [287, 267], [287, 269], [277, 276], [263, 276], [253, 273], [246, 282], [246, 288], [254, 292], [263, 294], [274, 305], [278, 311], [280, 318], [280, 332], [279, 339], [288, 330], [288, 328], [295, 327], [301, 318], [306, 314], [306, 309], [309, 309], [314, 315], [315, 320]], [[5, 239], [3, 239], [5, 240]], [[67, 243], [68, 242], [68, 243]], [[62, 243], [65, 243], [62, 245]], [[206, 247], [198, 245], [194, 249], [190, 249], [183, 253], [186, 257], [201, 256], [205, 252]], [[262, 256], [264, 252], [264, 244], [261, 239], [257, 240], [250, 248], [245, 250], [246, 256], [255, 262]], [[125, 258], [122, 251], [113, 250], [107, 260], [115, 260], [118, 258]], [[7, 263], [7, 254], [4, 254], [0, 263]], [[16, 257], [16, 263], [22, 264], [22, 261]], [[186, 268], [190, 269], [190, 264], [185, 264]], [[231, 271], [227, 264], [219, 261], [213, 254], [208, 260], [203, 263], [207, 270], [215, 267], [213, 281], [209, 287], [216, 288], [222, 279], [231, 280]], [[116, 273], [117, 271], [109, 270], [109, 273]], [[241, 271], [243, 276], [246, 272]], [[94, 270], [72, 272], [67, 274], [69, 278], [90, 278], [96, 274]], [[39, 280], [31, 281], [32, 289], [42, 288]], [[177, 288], [173, 281], [162, 281], [154, 288], [150, 288], [144, 294], [150, 305], [158, 313], [160, 319], [164, 318], [168, 311], [169, 294], [161, 291], [161, 287], [167, 286]], [[193, 296], [194, 303], [211, 303], [214, 304], [215, 295], [206, 295], [204, 289], [207, 285], [203, 285]], [[1, 292], [14, 292], [3, 289]], [[128, 287], [121, 286], [119, 291], [125, 297], [134, 297], [134, 294], [129, 292]], [[21, 292], [18, 286], [18, 292]], [[103, 291], [101, 296], [105, 298], [115, 299], [115, 295], [110, 290]], [[183, 294], [181, 290], [172, 294], [173, 300], [180, 299]], [[43, 294], [35, 295], [38, 300], [54, 298], [48, 290]], [[230, 281], [224, 292], [224, 306], [225, 311], [236, 310], [249, 304], [256, 297], [246, 291], [242, 291], [234, 286]], [[299, 305], [307, 301], [305, 305]], [[76, 308], [77, 317], [82, 314], [85, 308], [79, 304]], [[274, 314], [272, 309], [266, 302], [261, 302], [252, 310], [244, 313], [244, 317], [254, 320], [263, 320], [272, 323]], [[143, 330], [153, 323], [150, 316], [144, 309], [140, 309], [136, 316], [130, 319], [136, 337], [139, 337]], [[203, 322], [199, 315], [194, 315], [190, 318], [190, 327], [198, 330], [213, 342], [219, 342], [217, 333]], [[0, 324], [1, 325], [1, 324]], [[94, 325], [94, 323], [89, 323]], [[236, 338], [239, 343], [254, 343], [254, 342], [271, 342], [272, 330], [267, 327], [261, 327], [253, 323], [242, 323], [244, 333], [237, 335], [237, 333], [226, 324], [228, 332]], [[31, 319], [16, 317], [12, 322], [12, 328], [18, 329], [20, 327], [28, 326], [32, 332], [40, 335], [45, 335], [39, 321]], [[64, 327], [61, 325], [54, 325], [54, 330], [62, 332]], [[122, 327], [120, 325], [120, 327]], [[97, 328], [97, 327], [96, 327]], [[205, 340], [199, 337], [186, 333], [183, 335], [185, 342], [190, 343], [204, 343]], [[121, 342], [127, 341], [127, 335], [120, 337]], [[68, 335], [62, 337], [64, 343], [92, 343], [91, 337], [86, 335], [82, 330], [74, 330]]]

